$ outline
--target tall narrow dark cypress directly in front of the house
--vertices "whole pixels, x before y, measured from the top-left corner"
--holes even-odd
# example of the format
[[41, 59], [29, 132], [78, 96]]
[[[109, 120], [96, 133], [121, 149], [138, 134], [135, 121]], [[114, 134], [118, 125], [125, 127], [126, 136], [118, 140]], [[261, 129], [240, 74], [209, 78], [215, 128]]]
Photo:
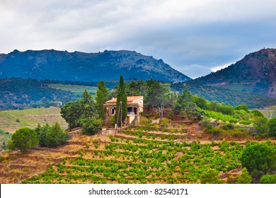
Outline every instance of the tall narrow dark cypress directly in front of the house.
[[117, 92], [117, 103], [116, 103], [116, 113], [115, 113], [115, 118], [116, 122], [118, 120], [118, 125], [121, 125], [121, 112], [118, 114], [120, 111], [120, 102], [122, 102], [122, 122], [125, 121], [125, 118], [127, 117], [127, 94], [125, 93], [125, 84], [124, 84], [124, 79], [122, 76], [120, 76], [120, 83], [119, 83], [119, 88]]

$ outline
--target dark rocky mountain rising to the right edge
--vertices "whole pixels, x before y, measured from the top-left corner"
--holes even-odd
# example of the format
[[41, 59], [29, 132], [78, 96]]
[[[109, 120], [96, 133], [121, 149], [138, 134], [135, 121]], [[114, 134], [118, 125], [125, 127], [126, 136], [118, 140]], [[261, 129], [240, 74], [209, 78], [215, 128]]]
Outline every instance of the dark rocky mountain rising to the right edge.
[[253, 52], [236, 64], [194, 81], [276, 98], [276, 49]]

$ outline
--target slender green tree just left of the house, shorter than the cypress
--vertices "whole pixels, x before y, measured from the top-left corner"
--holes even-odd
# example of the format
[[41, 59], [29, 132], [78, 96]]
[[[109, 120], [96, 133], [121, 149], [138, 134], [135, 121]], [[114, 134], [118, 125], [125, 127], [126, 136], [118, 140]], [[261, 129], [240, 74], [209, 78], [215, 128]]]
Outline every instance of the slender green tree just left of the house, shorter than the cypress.
[[108, 100], [108, 89], [105, 86], [105, 82], [100, 81], [98, 83], [98, 89], [96, 93], [96, 106], [98, 109], [98, 115], [103, 120], [105, 118], [105, 109], [103, 107], [103, 104], [106, 100]]

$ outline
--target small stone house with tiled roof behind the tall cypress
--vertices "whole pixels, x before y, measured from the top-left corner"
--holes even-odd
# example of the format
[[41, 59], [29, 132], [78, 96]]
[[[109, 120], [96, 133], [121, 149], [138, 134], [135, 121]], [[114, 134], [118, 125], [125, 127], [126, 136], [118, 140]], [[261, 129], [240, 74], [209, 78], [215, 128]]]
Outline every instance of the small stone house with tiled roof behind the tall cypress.
[[[110, 117], [115, 115], [117, 98], [108, 100], [103, 105], [105, 107], [105, 122], [108, 123]], [[143, 112], [144, 97], [143, 96], [128, 96], [127, 97], [127, 124], [137, 124], [140, 122], [140, 112]]]

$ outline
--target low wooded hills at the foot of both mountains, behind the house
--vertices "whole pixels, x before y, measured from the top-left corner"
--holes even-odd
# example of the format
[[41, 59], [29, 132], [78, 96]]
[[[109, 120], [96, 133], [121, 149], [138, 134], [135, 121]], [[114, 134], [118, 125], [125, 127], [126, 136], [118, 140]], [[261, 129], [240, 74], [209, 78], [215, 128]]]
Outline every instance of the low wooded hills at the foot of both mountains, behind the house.
[[[170, 85], [170, 83], [166, 83]], [[114, 88], [116, 83], [107, 83]], [[25, 109], [28, 107], [49, 107], [64, 104], [80, 97], [84, 89], [92, 95], [96, 93], [97, 83], [80, 81], [38, 81], [35, 79], [5, 78], [0, 79], [0, 110]], [[226, 88], [204, 86], [188, 81], [171, 83], [172, 91], [187, 88], [192, 94], [207, 100], [215, 100], [226, 105], [248, 105], [250, 108], [262, 108], [276, 105], [275, 98], [268, 98], [253, 93], [231, 91]], [[253, 98], [253, 99], [252, 99]]]

